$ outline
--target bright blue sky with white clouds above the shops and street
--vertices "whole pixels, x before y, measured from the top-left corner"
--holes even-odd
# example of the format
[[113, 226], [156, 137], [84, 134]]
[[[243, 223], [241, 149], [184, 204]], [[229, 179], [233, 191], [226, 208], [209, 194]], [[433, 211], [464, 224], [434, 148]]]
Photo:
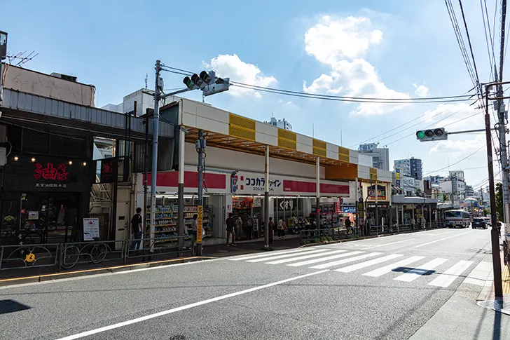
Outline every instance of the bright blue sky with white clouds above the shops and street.
[[[487, 2], [492, 23], [499, 1]], [[480, 81], [487, 82], [490, 65], [480, 3], [463, 3]], [[39, 55], [25, 67], [72, 74], [82, 83], [94, 84], [99, 106], [117, 104], [124, 95], [144, 87], [147, 73], [153, 88], [156, 59], [194, 72], [210, 65], [233, 81], [309, 93], [427, 97], [462, 95], [473, 87], [440, 0], [52, 0], [22, 5], [6, 1], [2, 13], [0, 29], [9, 33], [11, 54], [36, 50]], [[496, 19], [499, 27], [499, 14]], [[496, 37], [499, 45], [499, 34]], [[183, 86], [182, 76], [163, 76], [165, 88]], [[186, 97], [201, 100], [197, 91]], [[480, 134], [450, 136], [447, 142], [435, 143], [415, 139], [420, 127], [439, 127], [476, 114], [474, 107], [462, 103], [359, 106], [232, 87], [206, 101], [262, 121], [273, 113], [306, 135], [312, 135], [313, 123], [315, 137], [336, 144], [342, 130], [343, 146], [352, 149], [371, 139], [388, 145], [392, 160], [422, 158], [425, 173], [459, 161], [484, 143]], [[403, 128], [373, 138], [415, 118]], [[445, 119], [436, 123], [441, 118]], [[471, 128], [483, 128], [482, 114], [448, 125], [447, 130]], [[481, 149], [450, 170], [467, 169], [467, 182], [477, 184], [488, 177], [487, 170], [480, 168], [485, 162]]]

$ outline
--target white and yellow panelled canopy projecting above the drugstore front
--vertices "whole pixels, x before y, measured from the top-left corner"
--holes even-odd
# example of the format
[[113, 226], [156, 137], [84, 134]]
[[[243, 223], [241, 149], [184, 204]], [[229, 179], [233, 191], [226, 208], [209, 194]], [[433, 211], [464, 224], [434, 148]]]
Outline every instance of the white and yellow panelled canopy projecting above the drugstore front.
[[188, 130], [186, 142], [195, 143], [198, 131], [205, 132], [207, 145], [265, 154], [299, 163], [315, 164], [317, 156], [326, 168], [326, 179], [361, 182], [392, 182], [392, 172], [359, 164], [358, 151], [340, 147], [274, 125], [223, 111], [208, 104], [173, 97], [179, 102], [179, 125]]

